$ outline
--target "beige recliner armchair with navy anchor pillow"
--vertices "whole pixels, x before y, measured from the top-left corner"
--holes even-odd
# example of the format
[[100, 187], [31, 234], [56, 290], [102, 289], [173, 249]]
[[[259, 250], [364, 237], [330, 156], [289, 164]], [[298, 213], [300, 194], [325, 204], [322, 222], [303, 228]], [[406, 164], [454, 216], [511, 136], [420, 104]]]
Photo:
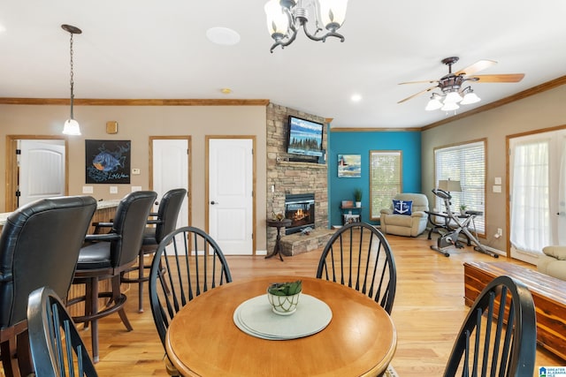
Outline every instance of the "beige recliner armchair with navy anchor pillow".
[[428, 215], [425, 211], [428, 211], [426, 195], [398, 193], [391, 207], [381, 210], [381, 231], [384, 234], [417, 237], [426, 229]]

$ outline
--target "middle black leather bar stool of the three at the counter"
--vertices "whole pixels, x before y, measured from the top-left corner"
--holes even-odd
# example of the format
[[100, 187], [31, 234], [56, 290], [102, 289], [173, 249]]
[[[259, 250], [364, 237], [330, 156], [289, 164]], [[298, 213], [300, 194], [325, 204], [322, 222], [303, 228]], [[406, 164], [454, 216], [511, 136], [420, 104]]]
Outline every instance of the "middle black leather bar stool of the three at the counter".
[[[85, 295], [70, 298], [67, 306], [84, 302], [84, 315], [73, 317], [77, 323], [91, 325], [92, 353], [95, 363], [98, 355], [98, 320], [111, 313], [119, 313], [120, 320], [131, 331], [124, 304], [126, 295], [120, 290], [120, 275], [134, 265], [142, 246], [149, 211], [157, 193], [152, 191], [131, 192], [120, 200], [112, 222], [111, 232], [88, 235], [88, 245], [80, 249], [73, 284], [84, 284]], [[110, 280], [111, 290], [99, 292], [98, 283]], [[107, 299], [102, 309], [98, 299]]]

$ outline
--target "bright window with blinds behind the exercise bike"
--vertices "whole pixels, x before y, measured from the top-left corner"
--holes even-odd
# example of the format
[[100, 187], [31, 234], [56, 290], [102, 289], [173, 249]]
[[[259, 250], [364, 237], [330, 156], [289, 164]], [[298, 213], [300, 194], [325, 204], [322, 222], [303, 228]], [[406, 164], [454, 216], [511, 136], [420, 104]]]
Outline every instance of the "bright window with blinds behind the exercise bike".
[[[473, 141], [434, 150], [435, 187], [439, 181], [460, 181], [462, 192], [450, 192], [452, 210], [458, 213], [460, 206], [481, 211], [475, 219], [478, 234], [486, 234], [486, 140]], [[444, 202], [436, 198], [435, 207], [444, 210]]]

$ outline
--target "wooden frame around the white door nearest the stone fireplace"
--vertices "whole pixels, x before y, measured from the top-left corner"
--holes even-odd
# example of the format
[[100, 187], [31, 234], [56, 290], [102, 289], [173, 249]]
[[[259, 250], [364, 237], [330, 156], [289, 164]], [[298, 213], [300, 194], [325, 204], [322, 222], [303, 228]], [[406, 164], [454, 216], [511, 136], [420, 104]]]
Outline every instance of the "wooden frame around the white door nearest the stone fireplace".
[[251, 251], [251, 255], [256, 255], [256, 180], [257, 180], [257, 174], [256, 174], [256, 136], [255, 135], [204, 135], [204, 202], [206, 203], [205, 209], [204, 209], [204, 226], [205, 226], [205, 230], [207, 233], [210, 232], [209, 229], [209, 208], [210, 206], [208, 205], [208, 203], [210, 203], [210, 198], [209, 198], [209, 189], [210, 189], [210, 175], [209, 175], [209, 170], [210, 170], [210, 159], [209, 159], [209, 154], [210, 154], [210, 147], [209, 147], [209, 141], [210, 139], [251, 139], [251, 150], [252, 150], [252, 155], [251, 155], [251, 159], [252, 159], [252, 178], [251, 178], [251, 187], [252, 187], [252, 192], [254, 192], [254, 194], [252, 195], [252, 205], [251, 205], [251, 210], [252, 210], [252, 214], [251, 214], [251, 247], [252, 247], [252, 251]]

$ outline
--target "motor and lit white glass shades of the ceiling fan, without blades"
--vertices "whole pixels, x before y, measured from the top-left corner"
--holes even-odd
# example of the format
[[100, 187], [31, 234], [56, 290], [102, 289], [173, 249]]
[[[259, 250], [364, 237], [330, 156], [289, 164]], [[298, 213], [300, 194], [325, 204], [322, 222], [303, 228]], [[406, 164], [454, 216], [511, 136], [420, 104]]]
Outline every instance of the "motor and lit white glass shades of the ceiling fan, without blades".
[[442, 63], [447, 64], [448, 74], [439, 80], [441, 94], [433, 93], [431, 100], [426, 104], [427, 111], [441, 109], [452, 111], [460, 109], [460, 105], [469, 105], [481, 101], [471, 87], [463, 87], [464, 81], [478, 81], [478, 78], [466, 78], [463, 74], [452, 73], [452, 64], [458, 60], [457, 57], [447, 57]]

